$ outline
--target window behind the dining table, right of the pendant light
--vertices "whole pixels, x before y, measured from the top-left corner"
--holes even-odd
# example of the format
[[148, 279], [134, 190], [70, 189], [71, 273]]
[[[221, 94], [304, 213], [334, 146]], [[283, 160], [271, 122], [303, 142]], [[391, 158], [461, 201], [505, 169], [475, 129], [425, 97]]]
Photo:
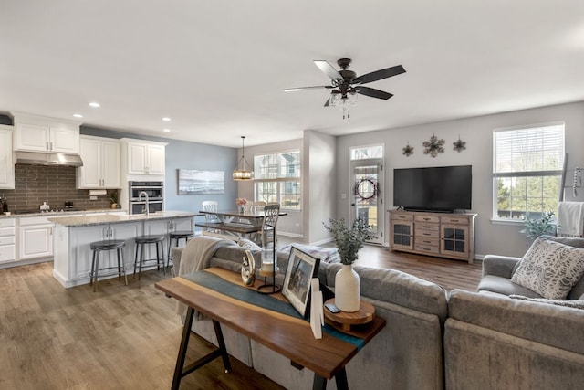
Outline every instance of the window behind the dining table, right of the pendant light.
[[282, 209], [300, 210], [300, 152], [254, 156], [256, 201], [278, 202]]

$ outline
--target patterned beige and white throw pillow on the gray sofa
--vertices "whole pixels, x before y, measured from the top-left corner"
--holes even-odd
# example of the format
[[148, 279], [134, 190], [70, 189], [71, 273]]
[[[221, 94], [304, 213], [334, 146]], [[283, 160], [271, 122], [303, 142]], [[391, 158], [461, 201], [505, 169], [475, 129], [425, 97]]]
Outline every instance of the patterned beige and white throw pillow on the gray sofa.
[[584, 274], [584, 249], [538, 237], [511, 281], [548, 300], [565, 300]]

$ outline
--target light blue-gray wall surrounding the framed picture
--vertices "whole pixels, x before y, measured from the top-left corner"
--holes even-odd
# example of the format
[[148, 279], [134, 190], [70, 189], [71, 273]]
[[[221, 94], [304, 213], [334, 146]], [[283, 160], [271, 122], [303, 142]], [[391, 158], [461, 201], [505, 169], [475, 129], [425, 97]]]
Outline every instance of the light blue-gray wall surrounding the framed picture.
[[[231, 174], [237, 164], [237, 151], [234, 148], [177, 141], [129, 132], [115, 132], [87, 126], [81, 126], [81, 134], [115, 139], [126, 137], [168, 143], [166, 145], [166, 176], [164, 179], [167, 210], [199, 211], [203, 200], [218, 201], [220, 210], [235, 208], [237, 185], [231, 178]], [[223, 195], [178, 195], [178, 169], [180, 168], [224, 171], [225, 193]]]

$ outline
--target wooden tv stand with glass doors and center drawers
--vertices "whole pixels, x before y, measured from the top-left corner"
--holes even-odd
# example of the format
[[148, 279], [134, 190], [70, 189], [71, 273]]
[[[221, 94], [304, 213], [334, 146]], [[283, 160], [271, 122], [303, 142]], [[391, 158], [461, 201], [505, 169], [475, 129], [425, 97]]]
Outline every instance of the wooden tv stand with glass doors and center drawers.
[[389, 213], [391, 250], [473, 263], [476, 214], [405, 210]]

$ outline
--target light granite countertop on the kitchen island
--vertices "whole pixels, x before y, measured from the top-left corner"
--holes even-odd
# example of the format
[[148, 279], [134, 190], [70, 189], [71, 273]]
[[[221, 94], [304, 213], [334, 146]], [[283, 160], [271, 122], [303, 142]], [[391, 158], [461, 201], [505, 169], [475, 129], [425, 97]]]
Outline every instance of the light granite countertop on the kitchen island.
[[189, 216], [202, 216], [194, 211], [159, 211], [152, 213], [150, 216], [145, 214], [117, 216], [111, 214], [99, 216], [55, 216], [49, 217], [48, 220], [64, 227], [89, 227], [93, 225], [123, 224], [129, 222], [151, 221], [157, 219], [171, 219]]

